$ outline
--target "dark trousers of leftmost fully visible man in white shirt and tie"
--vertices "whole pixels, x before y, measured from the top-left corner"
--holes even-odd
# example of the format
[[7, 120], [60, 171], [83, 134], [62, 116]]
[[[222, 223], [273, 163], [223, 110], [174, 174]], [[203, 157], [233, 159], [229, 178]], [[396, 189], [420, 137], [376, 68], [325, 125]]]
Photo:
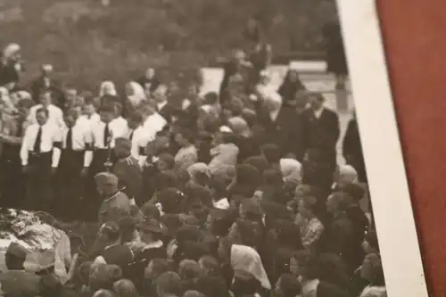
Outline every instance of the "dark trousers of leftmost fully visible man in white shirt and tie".
[[29, 171], [26, 181], [26, 208], [54, 214], [51, 161], [53, 152], [29, 152]]

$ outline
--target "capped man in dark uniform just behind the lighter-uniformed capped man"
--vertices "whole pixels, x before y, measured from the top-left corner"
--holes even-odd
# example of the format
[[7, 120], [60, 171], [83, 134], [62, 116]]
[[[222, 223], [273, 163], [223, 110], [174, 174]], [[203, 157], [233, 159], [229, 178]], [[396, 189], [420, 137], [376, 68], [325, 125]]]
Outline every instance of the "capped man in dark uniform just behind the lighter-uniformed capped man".
[[117, 138], [114, 151], [118, 161], [112, 168], [118, 177], [120, 191], [128, 195], [131, 202], [139, 202], [143, 188], [143, 173], [136, 158], [131, 155], [132, 143], [127, 138]]

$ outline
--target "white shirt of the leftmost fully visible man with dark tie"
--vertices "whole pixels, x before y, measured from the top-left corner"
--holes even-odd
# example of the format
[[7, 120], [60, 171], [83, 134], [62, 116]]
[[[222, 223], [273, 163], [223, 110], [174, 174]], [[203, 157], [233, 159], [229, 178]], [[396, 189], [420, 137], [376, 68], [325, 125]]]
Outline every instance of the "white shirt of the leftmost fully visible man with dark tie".
[[[28, 165], [29, 152], [34, 152], [34, 144], [37, 140], [37, 133], [40, 126], [38, 124], [30, 125], [23, 136], [21, 143], [21, 165]], [[53, 150], [52, 167], [57, 168], [61, 159], [61, 150], [54, 146], [61, 143], [61, 130], [54, 124], [46, 123], [42, 126], [42, 137], [40, 142], [40, 153], [48, 153]]]

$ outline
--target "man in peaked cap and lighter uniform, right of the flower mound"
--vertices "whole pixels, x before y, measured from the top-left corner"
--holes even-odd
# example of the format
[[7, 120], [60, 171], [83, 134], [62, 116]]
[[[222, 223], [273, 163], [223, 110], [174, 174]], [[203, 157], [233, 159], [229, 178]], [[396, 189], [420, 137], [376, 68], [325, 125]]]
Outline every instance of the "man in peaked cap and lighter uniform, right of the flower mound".
[[122, 213], [130, 213], [130, 200], [128, 195], [120, 192], [119, 179], [109, 172], [100, 172], [95, 175], [97, 189], [103, 197], [103, 202], [99, 208], [99, 223], [107, 221], [118, 221], [120, 218], [113, 218], [116, 211], [122, 210]]

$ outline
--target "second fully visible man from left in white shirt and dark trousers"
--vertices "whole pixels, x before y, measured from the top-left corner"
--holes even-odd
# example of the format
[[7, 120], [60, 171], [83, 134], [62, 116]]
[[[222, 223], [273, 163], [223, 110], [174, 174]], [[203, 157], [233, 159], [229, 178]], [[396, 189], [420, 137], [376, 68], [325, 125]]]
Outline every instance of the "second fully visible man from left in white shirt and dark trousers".
[[67, 111], [62, 128], [62, 156], [58, 177], [59, 208], [63, 219], [80, 219], [83, 178], [93, 160], [93, 134], [89, 123], [79, 118], [76, 109]]

